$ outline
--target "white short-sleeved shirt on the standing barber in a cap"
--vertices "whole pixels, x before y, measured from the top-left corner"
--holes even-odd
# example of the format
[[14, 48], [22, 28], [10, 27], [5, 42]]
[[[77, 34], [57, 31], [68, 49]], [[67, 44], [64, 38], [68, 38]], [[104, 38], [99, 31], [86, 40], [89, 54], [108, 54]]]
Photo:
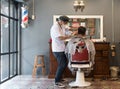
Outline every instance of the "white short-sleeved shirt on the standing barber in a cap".
[[52, 51], [53, 52], [63, 52], [65, 51], [65, 43], [60, 40], [59, 36], [65, 36], [65, 28], [60, 27], [58, 23], [51, 27], [50, 35], [52, 38]]

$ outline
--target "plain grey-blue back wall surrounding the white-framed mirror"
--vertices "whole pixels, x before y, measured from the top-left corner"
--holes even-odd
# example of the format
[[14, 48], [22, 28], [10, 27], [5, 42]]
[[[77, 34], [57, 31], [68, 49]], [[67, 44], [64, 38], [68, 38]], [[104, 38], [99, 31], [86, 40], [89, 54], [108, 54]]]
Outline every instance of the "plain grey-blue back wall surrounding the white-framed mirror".
[[[32, 73], [34, 57], [38, 54], [45, 55], [47, 74], [49, 73], [49, 38], [50, 27], [53, 23], [53, 15], [103, 15], [104, 35], [107, 41], [112, 42], [112, 3], [111, 0], [85, 0], [86, 7], [83, 12], [75, 12], [74, 0], [35, 0], [36, 19], [31, 21], [27, 29], [22, 29], [22, 74]], [[115, 1], [115, 44], [119, 47], [120, 33], [120, 0]], [[29, 3], [32, 11], [32, 4]], [[31, 14], [31, 12], [30, 12]], [[113, 42], [112, 42], [113, 43]], [[119, 47], [120, 48], [120, 47]], [[117, 50], [119, 51], [119, 50]], [[119, 54], [114, 58], [114, 64], [119, 59]], [[112, 62], [110, 62], [111, 65]], [[120, 61], [119, 61], [120, 64]]]

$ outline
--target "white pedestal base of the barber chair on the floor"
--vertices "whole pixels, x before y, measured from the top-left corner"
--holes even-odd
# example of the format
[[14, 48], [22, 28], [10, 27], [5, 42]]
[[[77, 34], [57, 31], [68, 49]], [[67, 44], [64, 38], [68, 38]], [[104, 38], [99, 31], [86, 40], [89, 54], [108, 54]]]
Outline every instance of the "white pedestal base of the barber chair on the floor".
[[90, 82], [86, 82], [84, 79], [84, 72], [78, 70], [76, 75], [76, 80], [74, 82], [69, 83], [71, 87], [86, 87], [90, 86]]

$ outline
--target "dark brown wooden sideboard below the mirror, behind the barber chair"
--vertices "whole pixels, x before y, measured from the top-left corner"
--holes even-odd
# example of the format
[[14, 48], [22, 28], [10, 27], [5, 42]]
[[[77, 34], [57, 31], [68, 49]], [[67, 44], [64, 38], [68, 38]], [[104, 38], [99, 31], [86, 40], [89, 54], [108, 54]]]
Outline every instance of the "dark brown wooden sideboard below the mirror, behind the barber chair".
[[[108, 42], [95, 42], [95, 65], [94, 70], [91, 73], [94, 78], [108, 78], [109, 77], [109, 50], [110, 46]], [[50, 73], [48, 78], [54, 78], [57, 70], [57, 61], [52, 54], [51, 43], [49, 43], [50, 48]], [[74, 77], [71, 71], [66, 68], [63, 77]]]

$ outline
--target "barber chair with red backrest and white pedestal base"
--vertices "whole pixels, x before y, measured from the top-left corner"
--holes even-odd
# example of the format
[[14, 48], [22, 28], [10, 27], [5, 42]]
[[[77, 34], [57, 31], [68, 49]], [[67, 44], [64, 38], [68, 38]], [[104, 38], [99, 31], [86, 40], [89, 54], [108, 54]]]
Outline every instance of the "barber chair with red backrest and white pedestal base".
[[91, 67], [92, 62], [90, 62], [90, 60], [90, 53], [88, 53], [87, 48], [80, 43], [71, 58], [71, 67], [77, 68], [77, 73], [75, 81], [69, 83], [70, 87], [86, 87], [91, 85], [90, 82], [85, 81], [84, 71], [82, 71], [82, 68]]

